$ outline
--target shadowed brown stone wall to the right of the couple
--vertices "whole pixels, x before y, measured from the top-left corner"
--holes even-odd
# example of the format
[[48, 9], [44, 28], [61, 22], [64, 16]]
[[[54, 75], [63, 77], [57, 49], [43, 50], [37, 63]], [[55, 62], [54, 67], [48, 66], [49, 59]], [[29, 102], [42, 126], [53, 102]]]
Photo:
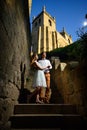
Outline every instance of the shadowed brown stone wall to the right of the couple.
[[[58, 66], [57, 66], [58, 64]], [[55, 65], [57, 68], [55, 69]], [[51, 72], [56, 103], [75, 104], [81, 115], [87, 116], [87, 61], [59, 62]], [[54, 88], [55, 87], [55, 88]], [[59, 98], [58, 97], [59, 94]], [[54, 99], [54, 101], [55, 101]]]

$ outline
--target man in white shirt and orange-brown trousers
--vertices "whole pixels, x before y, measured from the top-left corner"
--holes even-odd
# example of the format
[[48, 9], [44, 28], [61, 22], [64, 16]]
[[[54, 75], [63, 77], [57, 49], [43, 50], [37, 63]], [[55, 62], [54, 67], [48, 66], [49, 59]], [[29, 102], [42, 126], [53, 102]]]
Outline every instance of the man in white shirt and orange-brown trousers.
[[[49, 68], [44, 69], [44, 74], [46, 78], [47, 88], [45, 92], [45, 103], [49, 103], [51, 97], [51, 89], [50, 89], [50, 69], [52, 69], [52, 65], [50, 60], [46, 59], [46, 52], [41, 53], [41, 60], [38, 61], [42, 67], [49, 66]], [[44, 91], [41, 90], [41, 95], [43, 95]]]

